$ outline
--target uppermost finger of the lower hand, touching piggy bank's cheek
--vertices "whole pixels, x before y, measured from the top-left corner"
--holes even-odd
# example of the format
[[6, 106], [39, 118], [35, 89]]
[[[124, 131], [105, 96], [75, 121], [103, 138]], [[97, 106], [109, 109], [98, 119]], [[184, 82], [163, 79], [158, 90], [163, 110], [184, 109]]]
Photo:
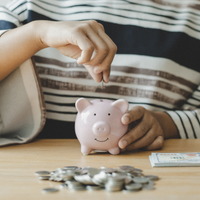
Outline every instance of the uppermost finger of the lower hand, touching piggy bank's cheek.
[[133, 121], [136, 121], [136, 120], [142, 118], [144, 113], [145, 113], [144, 107], [134, 106], [131, 110], [129, 110], [122, 116], [121, 121], [124, 125], [127, 125]]

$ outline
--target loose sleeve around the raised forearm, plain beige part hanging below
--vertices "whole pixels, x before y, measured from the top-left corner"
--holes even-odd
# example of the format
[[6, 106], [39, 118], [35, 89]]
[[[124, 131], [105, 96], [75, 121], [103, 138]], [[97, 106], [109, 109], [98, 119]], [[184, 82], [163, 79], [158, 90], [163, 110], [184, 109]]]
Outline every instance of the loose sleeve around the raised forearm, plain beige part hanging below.
[[[23, 0], [13, 1], [8, 7], [0, 6], [0, 36], [25, 24], [26, 13]], [[0, 81], [0, 147], [31, 141], [45, 120], [39, 77], [34, 62], [28, 59]]]

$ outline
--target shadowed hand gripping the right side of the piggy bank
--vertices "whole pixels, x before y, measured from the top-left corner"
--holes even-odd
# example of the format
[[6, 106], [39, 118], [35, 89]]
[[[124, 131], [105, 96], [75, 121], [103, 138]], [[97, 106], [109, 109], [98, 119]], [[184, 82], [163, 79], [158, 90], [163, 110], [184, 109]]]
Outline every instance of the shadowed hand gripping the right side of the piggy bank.
[[163, 146], [164, 130], [153, 111], [135, 106], [122, 116], [122, 123], [129, 124], [129, 132], [118, 143], [121, 149], [126, 151], [141, 148], [153, 150]]

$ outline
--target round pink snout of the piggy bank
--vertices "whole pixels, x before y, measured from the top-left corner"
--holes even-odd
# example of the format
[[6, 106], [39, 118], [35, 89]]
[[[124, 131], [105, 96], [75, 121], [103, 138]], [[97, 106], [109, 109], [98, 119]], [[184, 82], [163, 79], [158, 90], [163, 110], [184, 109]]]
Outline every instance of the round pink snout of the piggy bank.
[[96, 122], [92, 127], [93, 133], [97, 136], [107, 136], [110, 134], [110, 125], [106, 122]]

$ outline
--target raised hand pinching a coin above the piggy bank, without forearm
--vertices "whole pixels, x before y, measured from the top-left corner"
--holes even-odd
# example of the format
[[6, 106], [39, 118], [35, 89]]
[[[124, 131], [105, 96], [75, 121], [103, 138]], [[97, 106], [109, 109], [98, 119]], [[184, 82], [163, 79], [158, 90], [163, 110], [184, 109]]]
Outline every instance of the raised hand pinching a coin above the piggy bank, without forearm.
[[57, 48], [83, 64], [96, 82], [109, 81], [110, 66], [117, 51], [101, 24], [90, 21], [39, 21], [38, 38], [43, 48]]

